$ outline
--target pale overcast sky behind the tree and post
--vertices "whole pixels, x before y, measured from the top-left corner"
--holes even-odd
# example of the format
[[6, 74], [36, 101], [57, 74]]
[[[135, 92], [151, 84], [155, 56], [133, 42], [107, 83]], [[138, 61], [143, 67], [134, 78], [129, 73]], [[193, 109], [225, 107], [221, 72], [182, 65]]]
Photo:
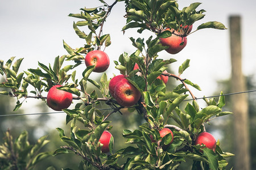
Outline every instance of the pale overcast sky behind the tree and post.
[[[106, 1], [109, 4], [114, 1]], [[182, 0], [180, 6], [189, 6], [192, 1]], [[206, 16], [195, 23], [195, 29], [199, 24], [217, 20], [229, 28], [229, 16], [240, 15], [242, 18], [242, 57], [243, 72], [250, 75], [256, 71], [256, 10], [255, 0], [217, 0], [217, 1], [193, 1], [203, 2], [198, 10], [204, 9]], [[72, 48], [84, 45], [73, 30], [72, 24], [76, 18], [68, 16], [70, 13], [80, 13], [82, 7], [95, 7], [100, 3], [93, 0], [23, 0], [0, 1], [0, 59], [7, 61], [12, 56], [16, 59], [23, 58], [21, 70], [38, 67], [38, 61], [53, 65], [56, 56], [67, 54], [63, 48], [63, 40]], [[113, 60], [117, 60], [120, 54], [134, 52], [129, 37], [144, 37], [147, 39], [151, 32], [140, 35], [136, 30], [127, 30], [125, 35], [121, 29], [126, 19], [123, 3], [118, 3], [108, 18], [104, 33], [110, 33], [112, 45], [105, 49], [110, 57], [110, 67], [107, 71], [118, 74], [114, 69]], [[177, 69], [185, 59], [191, 59], [191, 66], [185, 71], [183, 78], [199, 84], [202, 91], [195, 91], [197, 97], [212, 95], [215, 91], [221, 91], [216, 87], [216, 80], [227, 79], [230, 76], [230, 49], [229, 30], [204, 29], [188, 36], [187, 46], [178, 54], [171, 55], [160, 53], [160, 58], [175, 58], [177, 62], [171, 65], [172, 70]], [[78, 68], [82, 71], [85, 66]], [[21, 71], [20, 70], [20, 71]], [[79, 71], [77, 71], [79, 74]], [[101, 75], [95, 73], [94, 75]], [[225, 93], [225, 92], [224, 92]]]

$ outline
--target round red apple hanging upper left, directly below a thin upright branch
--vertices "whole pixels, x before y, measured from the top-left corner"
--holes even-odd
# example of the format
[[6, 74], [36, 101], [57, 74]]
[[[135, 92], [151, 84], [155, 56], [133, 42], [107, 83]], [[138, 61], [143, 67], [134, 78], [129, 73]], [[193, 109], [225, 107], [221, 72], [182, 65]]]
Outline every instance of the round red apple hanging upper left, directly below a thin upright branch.
[[85, 56], [85, 65], [92, 66], [95, 65], [94, 72], [102, 73], [106, 71], [109, 67], [109, 56], [101, 50], [90, 51]]

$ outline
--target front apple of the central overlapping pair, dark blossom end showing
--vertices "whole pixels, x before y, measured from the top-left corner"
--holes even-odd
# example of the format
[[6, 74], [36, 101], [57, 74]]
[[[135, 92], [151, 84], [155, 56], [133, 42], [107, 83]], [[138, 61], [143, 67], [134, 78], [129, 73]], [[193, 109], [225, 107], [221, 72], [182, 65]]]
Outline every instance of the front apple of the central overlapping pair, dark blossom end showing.
[[136, 104], [141, 97], [141, 92], [137, 90], [127, 79], [117, 82], [114, 90], [114, 98], [123, 107], [130, 107]]

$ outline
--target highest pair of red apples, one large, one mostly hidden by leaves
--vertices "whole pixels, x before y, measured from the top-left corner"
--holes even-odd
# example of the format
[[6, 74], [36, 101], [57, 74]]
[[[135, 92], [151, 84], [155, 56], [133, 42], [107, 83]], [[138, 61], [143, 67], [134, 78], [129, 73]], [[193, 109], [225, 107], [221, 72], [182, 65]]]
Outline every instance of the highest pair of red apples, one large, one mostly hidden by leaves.
[[187, 36], [181, 36], [180, 32], [183, 32], [184, 35], [188, 35], [192, 31], [193, 25], [185, 25], [182, 27], [180, 25], [182, 31], [176, 31], [174, 29], [167, 28], [164, 31], [171, 31], [173, 32], [170, 37], [167, 38], [159, 38], [160, 44], [163, 46], [169, 46], [166, 51], [170, 54], [177, 54], [179, 53], [186, 45], [187, 45]]

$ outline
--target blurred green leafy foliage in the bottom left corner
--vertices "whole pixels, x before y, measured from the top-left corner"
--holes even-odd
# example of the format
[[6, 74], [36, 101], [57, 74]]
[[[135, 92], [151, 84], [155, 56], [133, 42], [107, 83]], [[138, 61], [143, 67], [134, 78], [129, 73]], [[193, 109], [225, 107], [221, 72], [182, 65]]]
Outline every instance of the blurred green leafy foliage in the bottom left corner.
[[49, 152], [39, 153], [49, 142], [46, 138], [43, 136], [35, 145], [30, 145], [27, 131], [23, 131], [15, 140], [13, 140], [10, 130], [6, 131], [4, 142], [0, 145], [1, 168], [34, 169], [38, 162], [51, 156]]

